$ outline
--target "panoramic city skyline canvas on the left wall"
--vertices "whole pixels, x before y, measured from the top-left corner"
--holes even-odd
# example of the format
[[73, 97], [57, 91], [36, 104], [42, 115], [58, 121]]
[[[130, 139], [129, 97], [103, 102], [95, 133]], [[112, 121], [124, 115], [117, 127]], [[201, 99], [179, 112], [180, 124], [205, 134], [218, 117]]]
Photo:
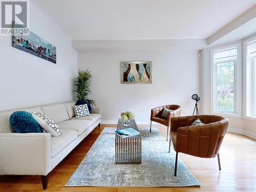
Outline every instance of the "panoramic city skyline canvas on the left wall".
[[12, 35], [12, 47], [56, 63], [56, 47], [31, 31], [29, 35]]

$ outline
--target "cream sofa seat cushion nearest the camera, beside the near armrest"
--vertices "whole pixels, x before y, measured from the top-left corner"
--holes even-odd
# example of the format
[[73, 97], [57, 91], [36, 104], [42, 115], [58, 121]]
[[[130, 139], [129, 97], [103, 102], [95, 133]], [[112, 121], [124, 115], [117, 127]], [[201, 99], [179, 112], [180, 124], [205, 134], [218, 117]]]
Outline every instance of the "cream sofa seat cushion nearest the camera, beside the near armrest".
[[59, 137], [51, 138], [51, 156], [57, 155], [63, 148], [78, 137], [78, 132], [73, 130], [62, 130]]

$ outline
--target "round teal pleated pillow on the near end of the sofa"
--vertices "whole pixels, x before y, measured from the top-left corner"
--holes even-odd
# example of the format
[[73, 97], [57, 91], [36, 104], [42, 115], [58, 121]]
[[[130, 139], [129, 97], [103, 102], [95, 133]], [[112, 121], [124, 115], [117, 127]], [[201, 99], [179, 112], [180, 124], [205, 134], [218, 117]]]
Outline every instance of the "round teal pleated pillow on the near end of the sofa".
[[9, 121], [16, 133], [42, 133], [42, 128], [29, 112], [15, 111]]

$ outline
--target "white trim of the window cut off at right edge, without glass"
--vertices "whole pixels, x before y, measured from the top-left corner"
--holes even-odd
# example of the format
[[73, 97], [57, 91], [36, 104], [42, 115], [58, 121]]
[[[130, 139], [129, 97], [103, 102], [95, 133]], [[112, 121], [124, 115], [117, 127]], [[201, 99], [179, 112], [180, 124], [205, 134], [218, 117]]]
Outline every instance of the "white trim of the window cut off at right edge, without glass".
[[[247, 114], [247, 44], [256, 40], [256, 37], [252, 37], [243, 42], [243, 118], [256, 121], [256, 116]], [[251, 101], [250, 101], [251, 102]], [[254, 104], [254, 103], [253, 103]]]

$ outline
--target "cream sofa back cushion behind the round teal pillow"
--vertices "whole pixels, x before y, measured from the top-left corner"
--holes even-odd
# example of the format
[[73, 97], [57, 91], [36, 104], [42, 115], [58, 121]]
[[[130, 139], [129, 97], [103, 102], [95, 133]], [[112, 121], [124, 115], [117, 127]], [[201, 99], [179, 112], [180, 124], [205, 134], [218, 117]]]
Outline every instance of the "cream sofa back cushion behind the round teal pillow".
[[0, 113], [0, 126], [2, 127], [3, 133], [12, 133], [12, 132], [14, 132], [13, 129], [12, 129], [12, 126], [10, 125], [9, 119], [10, 119], [11, 114], [15, 111], [26, 111], [26, 112], [29, 112], [29, 113], [31, 113], [33, 111], [37, 111], [37, 112], [42, 113], [42, 110], [39, 107], [29, 108], [29, 109], [11, 110], [11, 111], [8, 111], [8, 112]]

